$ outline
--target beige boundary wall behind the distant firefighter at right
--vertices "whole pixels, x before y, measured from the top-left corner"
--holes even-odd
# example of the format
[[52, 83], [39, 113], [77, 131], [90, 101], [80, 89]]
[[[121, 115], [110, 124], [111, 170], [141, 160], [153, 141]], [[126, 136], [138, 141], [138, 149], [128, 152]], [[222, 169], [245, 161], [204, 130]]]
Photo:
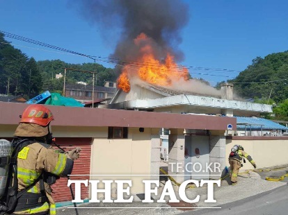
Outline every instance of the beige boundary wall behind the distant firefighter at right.
[[[278, 166], [288, 164], [288, 139], [258, 139], [240, 140], [227, 139], [226, 141], [226, 166], [230, 166], [228, 157], [234, 145], [243, 146], [244, 150], [256, 162], [257, 168]], [[253, 169], [253, 166], [246, 159], [241, 169]]]

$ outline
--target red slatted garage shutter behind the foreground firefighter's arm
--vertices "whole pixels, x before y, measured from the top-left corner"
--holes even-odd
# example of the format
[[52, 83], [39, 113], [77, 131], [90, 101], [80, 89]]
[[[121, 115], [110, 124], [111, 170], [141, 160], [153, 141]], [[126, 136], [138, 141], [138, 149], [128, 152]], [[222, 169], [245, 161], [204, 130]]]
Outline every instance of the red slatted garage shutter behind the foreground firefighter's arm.
[[[71, 176], [71, 180], [89, 180], [90, 174], [90, 157], [91, 157], [91, 138], [56, 138], [56, 143], [64, 150], [71, 150], [80, 147], [81, 153], [78, 160], [74, 161], [72, 175], [86, 176]], [[56, 202], [72, 200], [70, 187], [67, 187], [67, 178], [60, 178], [52, 185], [52, 196]], [[74, 192], [74, 185], [72, 185]], [[81, 184], [81, 199], [89, 197], [89, 189]]]

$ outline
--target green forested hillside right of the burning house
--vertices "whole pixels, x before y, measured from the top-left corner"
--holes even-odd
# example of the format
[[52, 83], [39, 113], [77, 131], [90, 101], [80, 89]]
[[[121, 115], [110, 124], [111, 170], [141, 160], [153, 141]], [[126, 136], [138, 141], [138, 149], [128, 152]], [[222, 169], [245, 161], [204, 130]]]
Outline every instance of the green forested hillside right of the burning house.
[[[276, 103], [288, 96], [288, 51], [255, 58], [237, 78], [229, 80], [244, 98], [270, 98]], [[238, 84], [239, 83], [239, 84]]]

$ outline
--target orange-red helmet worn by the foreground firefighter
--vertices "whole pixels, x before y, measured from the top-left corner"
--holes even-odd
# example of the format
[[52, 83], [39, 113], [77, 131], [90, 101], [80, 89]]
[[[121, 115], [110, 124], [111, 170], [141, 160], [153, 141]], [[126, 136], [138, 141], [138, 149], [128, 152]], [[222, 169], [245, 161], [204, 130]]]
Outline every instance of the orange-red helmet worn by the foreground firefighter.
[[40, 126], [47, 126], [54, 120], [52, 112], [44, 105], [29, 105], [20, 116], [20, 123], [33, 123]]

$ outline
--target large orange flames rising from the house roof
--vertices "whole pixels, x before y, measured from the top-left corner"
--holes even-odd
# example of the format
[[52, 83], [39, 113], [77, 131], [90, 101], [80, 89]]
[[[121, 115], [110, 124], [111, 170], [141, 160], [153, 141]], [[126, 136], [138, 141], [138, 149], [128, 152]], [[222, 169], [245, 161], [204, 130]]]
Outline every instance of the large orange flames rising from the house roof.
[[174, 62], [174, 57], [167, 53], [165, 60], [157, 60], [152, 47], [152, 40], [144, 33], [141, 33], [134, 40], [139, 47], [141, 57], [136, 62], [131, 62], [122, 69], [119, 76], [118, 88], [124, 92], [130, 91], [129, 79], [137, 76], [147, 83], [160, 86], [169, 86], [177, 80], [189, 80], [189, 72], [185, 67], [179, 67]]

